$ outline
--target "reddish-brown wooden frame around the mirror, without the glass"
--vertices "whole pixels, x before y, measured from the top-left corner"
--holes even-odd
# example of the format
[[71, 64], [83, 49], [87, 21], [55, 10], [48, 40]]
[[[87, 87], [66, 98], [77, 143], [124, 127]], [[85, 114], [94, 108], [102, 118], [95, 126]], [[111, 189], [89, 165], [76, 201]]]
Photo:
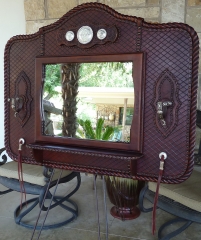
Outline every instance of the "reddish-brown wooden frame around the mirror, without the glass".
[[[142, 152], [143, 147], [143, 111], [144, 111], [144, 60], [145, 56], [143, 53], [136, 54], [121, 54], [121, 55], [96, 55], [96, 56], [76, 56], [76, 57], [44, 57], [36, 58], [36, 92], [35, 92], [35, 141], [37, 142], [49, 142], [51, 144], [61, 144], [68, 146], [79, 146], [80, 148], [97, 148], [105, 149], [116, 149], [130, 152]], [[41, 89], [42, 89], [42, 76], [43, 66], [51, 63], [80, 63], [80, 62], [115, 62], [115, 61], [132, 61], [133, 62], [133, 80], [135, 86], [135, 101], [134, 108], [135, 114], [131, 125], [130, 142], [110, 142], [110, 141], [94, 141], [90, 139], [78, 139], [78, 138], [65, 138], [58, 136], [47, 136], [43, 135], [44, 126], [42, 126], [43, 115], [41, 114], [42, 100], [41, 100]], [[42, 131], [41, 131], [42, 130]], [[90, 146], [90, 147], [89, 147]]]

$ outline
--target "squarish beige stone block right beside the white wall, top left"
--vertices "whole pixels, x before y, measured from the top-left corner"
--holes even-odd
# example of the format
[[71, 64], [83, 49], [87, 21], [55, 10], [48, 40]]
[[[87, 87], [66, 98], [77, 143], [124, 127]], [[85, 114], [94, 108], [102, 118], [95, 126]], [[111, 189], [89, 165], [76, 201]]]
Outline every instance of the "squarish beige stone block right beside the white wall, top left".
[[24, 0], [24, 11], [26, 20], [44, 19], [44, 0]]

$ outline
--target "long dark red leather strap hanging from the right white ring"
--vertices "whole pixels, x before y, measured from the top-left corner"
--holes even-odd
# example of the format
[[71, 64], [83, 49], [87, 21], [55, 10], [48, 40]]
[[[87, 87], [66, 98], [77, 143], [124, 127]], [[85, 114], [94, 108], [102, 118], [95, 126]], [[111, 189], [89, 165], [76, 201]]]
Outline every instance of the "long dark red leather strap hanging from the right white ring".
[[[162, 155], [161, 161], [160, 161], [160, 166], [161, 163], [164, 163], [164, 155]], [[153, 206], [153, 211], [152, 211], [152, 234], [155, 234], [156, 231], [156, 207], [158, 203], [158, 193], [159, 193], [159, 186], [161, 183], [161, 179], [163, 176], [163, 168], [159, 168], [159, 175], [158, 175], [158, 181], [157, 181], [157, 186], [156, 186], [156, 193], [155, 193], [155, 198], [154, 198], [154, 206]]]

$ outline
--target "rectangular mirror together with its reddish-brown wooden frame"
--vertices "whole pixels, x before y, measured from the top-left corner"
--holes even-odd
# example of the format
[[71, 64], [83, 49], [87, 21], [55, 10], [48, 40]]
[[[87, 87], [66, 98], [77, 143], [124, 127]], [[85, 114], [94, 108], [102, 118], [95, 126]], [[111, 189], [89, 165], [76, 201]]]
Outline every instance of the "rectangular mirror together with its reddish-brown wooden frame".
[[38, 57], [35, 71], [36, 142], [142, 151], [142, 53]]

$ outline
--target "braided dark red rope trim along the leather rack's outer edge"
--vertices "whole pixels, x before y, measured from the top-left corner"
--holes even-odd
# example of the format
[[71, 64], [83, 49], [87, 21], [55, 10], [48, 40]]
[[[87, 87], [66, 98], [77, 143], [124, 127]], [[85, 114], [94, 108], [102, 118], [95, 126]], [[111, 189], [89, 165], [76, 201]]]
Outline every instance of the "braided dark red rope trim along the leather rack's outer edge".
[[[110, 15], [114, 18], [116, 18], [116, 20], [120, 23], [128, 23], [130, 24], [130, 26], [134, 26], [136, 25], [137, 28], [137, 21], [139, 18], [133, 17], [133, 16], [125, 16], [122, 14], [119, 14], [118, 12], [114, 11], [113, 9], [111, 9], [110, 7], [100, 4], [100, 3], [86, 3], [86, 4], [82, 4], [74, 9], [72, 9], [71, 11], [69, 11], [67, 14], [65, 14], [60, 20], [58, 20], [57, 22], [43, 27], [39, 30], [39, 32], [32, 34], [32, 35], [22, 35], [22, 36], [16, 36], [11, 38], [5, 48], [5, 61], [4, 61], [4, 76], [5, 76], [5, 87], [4, 87], [4, 96], [5, 96], [5, 146], [6, 146], [6, 150], [8, 155], [16, 160], [17, 159], [17, 148], [15, 148], [15, 144], [12, 142], [13, 139], [11, 136], [13, 136], [13, 132], [11, 132], [10, 130], [10, 125], [11, 122], [13, 121], [13, 115], [12, 112], [10, 111], [10, 103], [8, 103], [8, 98], [10, 98], [10, 92], [11, 92], [11, 86], [13, 87], [14, 82], [10, 83], [10, 77], [11, 74], [13, 74], [13, 69], [11, 69], [11, 59], [12, 59], [12, 54], [13, 54], [13, 47], [15, 48], [18, 44], [22, 44], [23, 42], [25, 43], [25, 45], [29, 45], [30, 43], [34, 43], [35, 41], [37, 41], [38, 39], [41, 39], [41, 52], [38, 54], [38, 52], [36, 53], [35, 57], [38, 57], [38, 55], [41, 56], [46, 56], [45, 55], [45, 43], [46, 43], [46, 39], [45, 37], [47, 36], [46, 33], [51, 32], [51, 31], [58, 31], [59, 28], [61, 28], [63, 25], [65, 25], [68, 20], [70, 20], [71, 18], [75, 17], [77, 14], [81, 13], [81, 12], [86, 12], [86, 11], [99, 11], [102, 13], [106, 13], [107, 15]], [[109, 23], [108, 23], [109, 24]], [[128, 28], [129, 31], [130, 28]], [[138, 29], [139, 31], [139, 29]], [[194, 29], [186, 24], [183, 23], [165, 23], [165, 24], [153, 24], [153, 23], [147, 23], [147, 22], [143, 22], [142, 23], [142, 28], [140, 30], [140, 33], [143, 34], [145, 33], [145, 35], [147, 37], [149, 37], [149, 32], [159, 32], [159, 33], [171, 33], [171, 32], [183, 32], [186, 37], [189, 39], [189, 46], [188, 46], [188, 51], [189, 51], [189, 55], [190, 55], [190, 63], [192, 63], [192, 66], [189, 66], [189, 81], [191, 81], [191, 83], [189, 84], [189, 105], [188, 105], [188, 116], [187, 116], [187, 126], [186, 127], [186, 138], [185, 138], [185, 149], [184, 151], [186, 152], [185, 155], [185, 160], [183, 161], [183, 170], [182, 172], [180, 172], [176, 177], [174, 176], [174, 179], [171, 178], [171, 176], [164, 176], [164, 178], [162, 179], [163, 182], [165, 183], [179, 183], [182, 182], [184, 180], [186, 180], [193, 169], [193, 165], [194, 165], [194, 161], [193, 161], [193, 157], [194, 157], [194, 142], [195, 142], [195, 122], [196, 122], [196, 101], [197, 101], [197, 75], [198, 75], [198, 60], [199, 60], [199, 40], [198, 40], [198, 36], [196, 34], [196, 32], [194, 31]], [[43, 35], [43, 37], [41, 36]], [[171, 35], [171, 34], [169, 34]], [[143, 36], [143, 35], [141, 35]], [[136, 35], [133, 35], [133, 39], [137, 39]], [[137, 41], [137, 40], [136, 40]], [[135, 42], [136, 42], [135, 41]], [[161, 41], [163, 41], [161, 39]], [[137, 41], [138, 42], [138, 41]], [[144, 39], [141, 39], [141, 43], [142, 43], [142, 47], [143, 47], [143, 42]], [[109, 44], [108, 44], [109, 45]], [[112, 45], [112, 44], [111, 44]], [[40, 46], [39, 46], [40, 47]], [[104, 47], [107, 47], [107, 45], [105, 45]], [[38, 48], [39, 49], [39, 48]], [[94, 48], [95, 49], [95, 48]], [[93, 50], [94, 50], [93, 49]], [[78, 49], [79, 50], [79, 49]], [[88, 49], [86, 50], [82, 50], [83, 52], [86, 51], [87, 54], [90, 54], [90, 51], [88, 51]], [[128, 51], [130, 51], [130, 49], [128, 49]], [[133, 44], [133, 51], [140, 51], [140, 48], [137, 47], [137, 45], [134, 43]], [[147, 56], [151, 57], [150, 54], [150, 48], [146, 48], [146, 46], [144, 46], [144, 51], [147, 52]], [[95, 51], [94, 51], [95, 52]], [[26, 53], [27, 54], [27, 53]], [[96, 54], [96, 52], [94, 53], [94, 55]], [[27, 60], [27, 58], [25, 58]], [[21, 71], [22, 69], [20, 69]], [[149, 68], [147, 68], [147, 71], [150, 71]], [[155, 69], [152, 71], [155, 71]], [[149, 72], [150, 73], [150, 72]], [[32, 80], [32, 79], [31, 79]], [[146, 79], [147, 81], [149, 79]], [[145, 83], [146, 84], [146, 83]], [[153, 86], [153, 84], [152, 84]], [[151, 88], [151, 91], [153, 93], [153, 89]], [[14, 92], [12, 92], [12, 94], [14, 95]], [[145, 96], [146, 96], [146, 92], [145, 92]], [[181, 99], [182, 100], [182, 99]], [[33, 109], [33, 111], [35, 110], [35, 108]], [[150, 111], [152, 113], [152, 109], [145, 109], [145, 113], [146, 111]], [[154, 112], [156, 111], [156, 109], [154, 109]], [[32, 119], [32, 115], [31, 115], [31, 119]], [[146, 118], [146, 115], [145, 115]], [[30, 119], [30, 120], [31, 120]], [[144, 119], [146, 121], [146, 119]], [[18, 124], [19, 125], [19, 124]], [[27, 124], [28, 125], [28, 124]], [[27, 125], [25, 126], [25, 128], [23, 128], [23, 133], [26, 134], [25, 130], [27, 128]], [[17, 124], [16, 124], [16, 127]], [[158, 129], [158, 128], [157, 128]], [[18, 127], [18, 130], [15, 131], [15, 136], [16, 133], [20, 135], [21, 137], [21, 128]], [[159, 131], [159, 130], [158, 130]], [[149, 134], [149, 132], [145, 132], [145, 138], [147, 137], [147, 135]], [[161, 133], [162, 134], [162, 133]], [[18, 137], [18, 135], [17, 135]], [[29, 136], [30, 137], [30, 136]], [[31, 140], [30, 140], [31, 139]], [[28, 142], [32, 142], [33, 138], [30, 137], [30, 139], [28, 139]], [[11, 144], [12, 143], [12, 144]], [[153, 149], [154, 150], [154, 149]], [[23, 155], [23, 162], [29, 163], [29, 164], [39, 164], [35, 161], [33, 161], [33, 157], [32, 155], [28, 154], [29, 151], [25, 151], [24, 155]], [[140, 159], [138, 161], [138, 163], [142, 160], [143, 163], [147, 163], [148, 161], [146, 161], [146, 156], [143, 157], [143, 159]], [[115, 160], [118, 162], [118, 160]], [[151, 167], [156, 163], [156, 161], [153, 159], [150, 160], [151, 161]], [[100, 173], [100, 174], [109, 174], [109, 175], [115, 175], [115, 176], [121, 176], [121, 177], [132, 177], [132, 178], [137, 178], [139, 180], [146, 180], [146, 181], [156, 181], [157, 180], [157, 174], [156, 171], [153, 168], [151, 168], [152, 173], [147, 173], [147, 171], [144, 171], [144, 169], [139, 169], [139, 164], [138, 164], [138, 169], [137, 169], [137, 173], [134, 176], [130, 176], [129, 174], [127, 174], [127, 172], [122, 172], [122, 171], [118, 171], [115, 170], [115, 172], [109, 171], [108, 169], [105, 170], [97, 170], [98, 168], [94, 167], [89, 168], [88, 166], [70, 166], [70, 164], [68, 163], [64, 163], [63, 165], [61, 165], [58, 161], [55, 162], [46, 162], [44, 161], [43, 164], [46, 164], [48, 166], [52, 166], [52, 167], [58, 167], [58, 168], [64, 168], [64, 169], [72, 169], [72, 170], [77, 170], [77, 171], [84, 171], [84, 172], [91, 172], [91, 173]], [[127, 164], [127, 163], [126, 163]], [[132, 169], [131, 169], [132, 170]], [[147, 170], [147, 169], [146, 169]]]

